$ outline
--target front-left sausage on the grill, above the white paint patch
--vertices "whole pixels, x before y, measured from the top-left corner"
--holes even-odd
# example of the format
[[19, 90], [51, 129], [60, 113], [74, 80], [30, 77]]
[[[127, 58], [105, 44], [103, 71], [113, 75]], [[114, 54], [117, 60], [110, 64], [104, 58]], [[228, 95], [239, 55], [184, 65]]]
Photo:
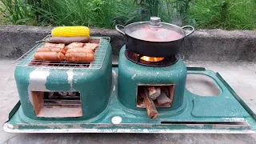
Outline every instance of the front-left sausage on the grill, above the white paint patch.
[[38, 52], [34, 54], [34, 58], [41, 61], [62, 61], [64, 54], [57, 52]]

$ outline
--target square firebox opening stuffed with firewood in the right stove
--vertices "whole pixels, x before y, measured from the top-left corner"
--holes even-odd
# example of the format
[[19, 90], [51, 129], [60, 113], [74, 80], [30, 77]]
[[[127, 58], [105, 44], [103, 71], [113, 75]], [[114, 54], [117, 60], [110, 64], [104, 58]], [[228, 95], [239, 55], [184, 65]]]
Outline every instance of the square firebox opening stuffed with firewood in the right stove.
[[174, 85], [139, 85], [136, 106], [139, 108], [146, 108], [149, 105], [156, 108], [171, 107], [173, 97]]

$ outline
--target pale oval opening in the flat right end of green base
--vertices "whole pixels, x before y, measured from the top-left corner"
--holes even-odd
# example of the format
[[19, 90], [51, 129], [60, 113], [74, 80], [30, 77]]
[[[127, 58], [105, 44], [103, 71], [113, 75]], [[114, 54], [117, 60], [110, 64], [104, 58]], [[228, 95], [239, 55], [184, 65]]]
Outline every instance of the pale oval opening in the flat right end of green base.
[[221, 93], [214, 79], [204, 74], [187, 74], [186, 89], [199, 96], [218, 96]]

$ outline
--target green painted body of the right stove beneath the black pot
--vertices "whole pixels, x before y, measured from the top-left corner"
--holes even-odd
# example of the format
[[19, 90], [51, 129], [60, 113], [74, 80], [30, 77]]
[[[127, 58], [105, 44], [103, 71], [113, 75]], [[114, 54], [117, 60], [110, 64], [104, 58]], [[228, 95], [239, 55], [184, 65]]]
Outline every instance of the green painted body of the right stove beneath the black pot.
[[186, 87], [186, 66], [182, 62], [182, 58], [179, 58], [178, 62], [171, 66], [142, 66], [128, 60], [124, 51], [125, 47], [122, 47], [118, 66], [118, 98], [122, 105], [133, 110], [144, 110], [136, 107], [139, 84], [175, 84], [173, 105], [171, 108], [159, 110], [177, 110], [182, 106]]

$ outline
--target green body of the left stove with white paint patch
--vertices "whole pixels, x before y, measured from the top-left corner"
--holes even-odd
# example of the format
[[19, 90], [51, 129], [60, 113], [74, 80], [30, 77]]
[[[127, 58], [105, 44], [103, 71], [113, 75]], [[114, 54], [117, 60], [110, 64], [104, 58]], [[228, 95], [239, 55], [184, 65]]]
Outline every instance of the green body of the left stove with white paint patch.
[[17, 66], [15, 80], [22, 104], [21, 118], [28, 122], [49, 119], [73, 120], [73, 118], [38, 118], [34, 112], [30, 91], [78, 91], [81, 94], [82, 117], [76, 119], [85, 120], [101, 114], [110, 99], [111, 63], [109, 45], [101, 69], [53, 70]]

